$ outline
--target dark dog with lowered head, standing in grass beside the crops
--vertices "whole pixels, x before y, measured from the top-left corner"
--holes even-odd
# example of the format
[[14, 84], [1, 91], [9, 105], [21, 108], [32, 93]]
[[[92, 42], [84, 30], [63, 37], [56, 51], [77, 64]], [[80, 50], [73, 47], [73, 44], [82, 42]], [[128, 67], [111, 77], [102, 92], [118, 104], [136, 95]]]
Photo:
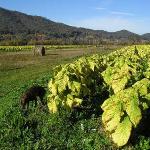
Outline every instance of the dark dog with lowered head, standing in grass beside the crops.
[[21, 97], [21, 107], [25, 109], [26, 106], [29, 108], [29, 101], [35, 101], [35, 105], [37, 105], [37, 97], [40, 98], [41, 103], [43, 103], [43, 97], [46, 93], [46, 90], [41, 86], [32, 86], [29, 88]]

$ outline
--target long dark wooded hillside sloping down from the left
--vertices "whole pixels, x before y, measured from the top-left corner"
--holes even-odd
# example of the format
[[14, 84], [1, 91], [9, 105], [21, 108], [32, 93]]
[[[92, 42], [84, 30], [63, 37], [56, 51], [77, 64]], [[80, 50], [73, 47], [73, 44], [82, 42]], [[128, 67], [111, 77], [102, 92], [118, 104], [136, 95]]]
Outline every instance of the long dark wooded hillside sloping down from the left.
[[142, 42], [143, 39], [150, 40], [127, 30], [106, 32], [77, 28], [44, 17], [0, 8], [0, 45], [130, 44]]

